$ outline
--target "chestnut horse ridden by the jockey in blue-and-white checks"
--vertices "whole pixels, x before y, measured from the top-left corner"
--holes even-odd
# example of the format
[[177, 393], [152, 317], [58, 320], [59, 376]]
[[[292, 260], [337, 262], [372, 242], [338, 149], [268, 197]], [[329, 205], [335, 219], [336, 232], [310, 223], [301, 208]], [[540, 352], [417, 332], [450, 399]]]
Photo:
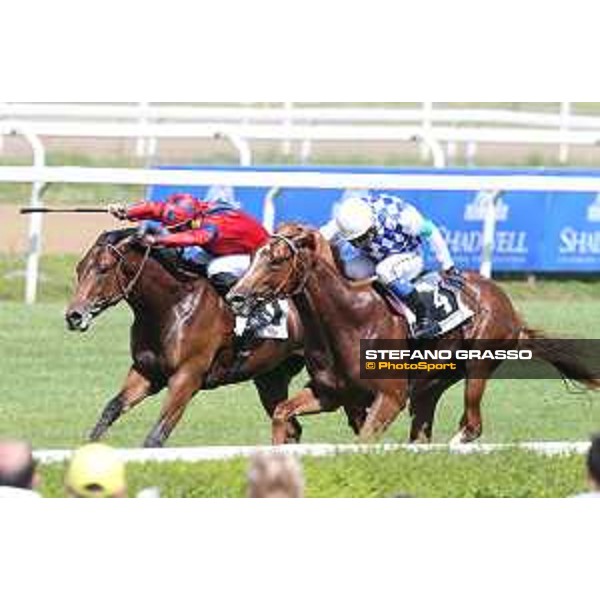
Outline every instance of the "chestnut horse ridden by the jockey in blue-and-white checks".
[[[542, 334], [529, 329], [504, 292], [477, 274], [465, 276], [464, 301], [473, 310], [471, 321], [443, 338], [444, 349], [461, 349], [470, 342], [498, 340], [506, 349], [531, 349], [536, 358], [552, 364], [565, 379], [587, 388], [600, 388], [597, 373], [567, 347], [534, 343]], [[336, 267], [331, 249], [315, 230], [284, 226], [257, 253], [250, 271], [229, 294], [234, 310], [244, 314], [273, 298], [293, 297], [305, 329], [305, 358], [310, 385], [281, 404], [273, 418], [273, 441], [285, 443], [290, 419], [303, 414], [334, 411], [350, 403], [355, 414], [363, 411], [360, 436], [371, 440], [383, 434], [406, 408], [413, 416], [410, 439], [430, 442], [437, 404], [453, 385], [465, 379], [465, 410], [456, 443], [470, 443], [483, 432], [481, 403], [488, 380], [500, 362], [472, 361], [453, 379], [432, 376], [411, 382], [362, 380], [360, 341], [387, 339], [405, 342], [408, 324], [390, 309], [372, 285], [349, 282]], [[475, 344], [475, 345], [473, 345]]]

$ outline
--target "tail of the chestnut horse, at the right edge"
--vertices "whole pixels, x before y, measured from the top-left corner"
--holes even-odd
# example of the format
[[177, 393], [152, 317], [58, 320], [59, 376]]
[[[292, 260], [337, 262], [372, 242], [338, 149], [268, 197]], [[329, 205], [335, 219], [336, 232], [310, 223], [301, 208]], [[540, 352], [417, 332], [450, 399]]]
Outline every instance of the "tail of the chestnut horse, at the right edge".
[[542, 332], [524, 328], [519, 348], [533, 352], [534, 358], [554, 366], [566, 381], [579, 383], [588, 390], [600, 390], [600, 367], [592, 362], [581, 342], [553, 340]]

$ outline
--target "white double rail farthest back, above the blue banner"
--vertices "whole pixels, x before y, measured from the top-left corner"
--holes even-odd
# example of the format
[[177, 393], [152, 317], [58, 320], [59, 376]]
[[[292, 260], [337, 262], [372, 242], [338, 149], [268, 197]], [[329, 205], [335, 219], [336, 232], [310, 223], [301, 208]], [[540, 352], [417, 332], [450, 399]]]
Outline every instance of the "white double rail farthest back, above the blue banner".
[[[289, 152], [292, 141], [310, 147], [318, 141], [435, 140], [459, 144], [542, 144], [559, 148], [567, 162], [571, 146], [600, 140], [600, 117], [576, 115], [572, 103], [556, 113], [445, 109], [424, 102], [419, 109], [138, 104], [0, 103], [0, 119], [26, 122], [37, 135], [65, 138], [132, 138], [139, 152], [152, 154], [157, 140], [210, 139], [235, 135], [248, 141], [272, 140]], [[306, 154], [306, 152], [305, 152]]]

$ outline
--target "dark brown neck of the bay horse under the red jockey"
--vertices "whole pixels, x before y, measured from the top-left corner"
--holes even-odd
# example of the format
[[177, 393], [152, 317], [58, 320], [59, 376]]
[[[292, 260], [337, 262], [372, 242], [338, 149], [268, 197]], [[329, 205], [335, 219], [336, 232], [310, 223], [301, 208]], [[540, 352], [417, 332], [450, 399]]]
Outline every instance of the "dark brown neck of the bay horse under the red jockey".
[[[140, 268], [140, 262], [137, 268]], [[186, 284], [178, 281], [158, 261], [150, 258], [129, 294], [128, 303], [134, 313], [158, 322], [175, 306], [185, 302], [203, 283]]]

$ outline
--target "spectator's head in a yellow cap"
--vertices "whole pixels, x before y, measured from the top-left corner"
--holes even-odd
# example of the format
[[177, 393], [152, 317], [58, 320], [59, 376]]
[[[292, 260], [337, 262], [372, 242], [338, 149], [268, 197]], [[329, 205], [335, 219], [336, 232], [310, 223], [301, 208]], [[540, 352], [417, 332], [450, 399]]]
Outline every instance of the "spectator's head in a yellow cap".
[[125, 498], [125, 465], [118, 453], [108, 446], [84, 446], [71, 459], [65, 486], [74, 498]]

